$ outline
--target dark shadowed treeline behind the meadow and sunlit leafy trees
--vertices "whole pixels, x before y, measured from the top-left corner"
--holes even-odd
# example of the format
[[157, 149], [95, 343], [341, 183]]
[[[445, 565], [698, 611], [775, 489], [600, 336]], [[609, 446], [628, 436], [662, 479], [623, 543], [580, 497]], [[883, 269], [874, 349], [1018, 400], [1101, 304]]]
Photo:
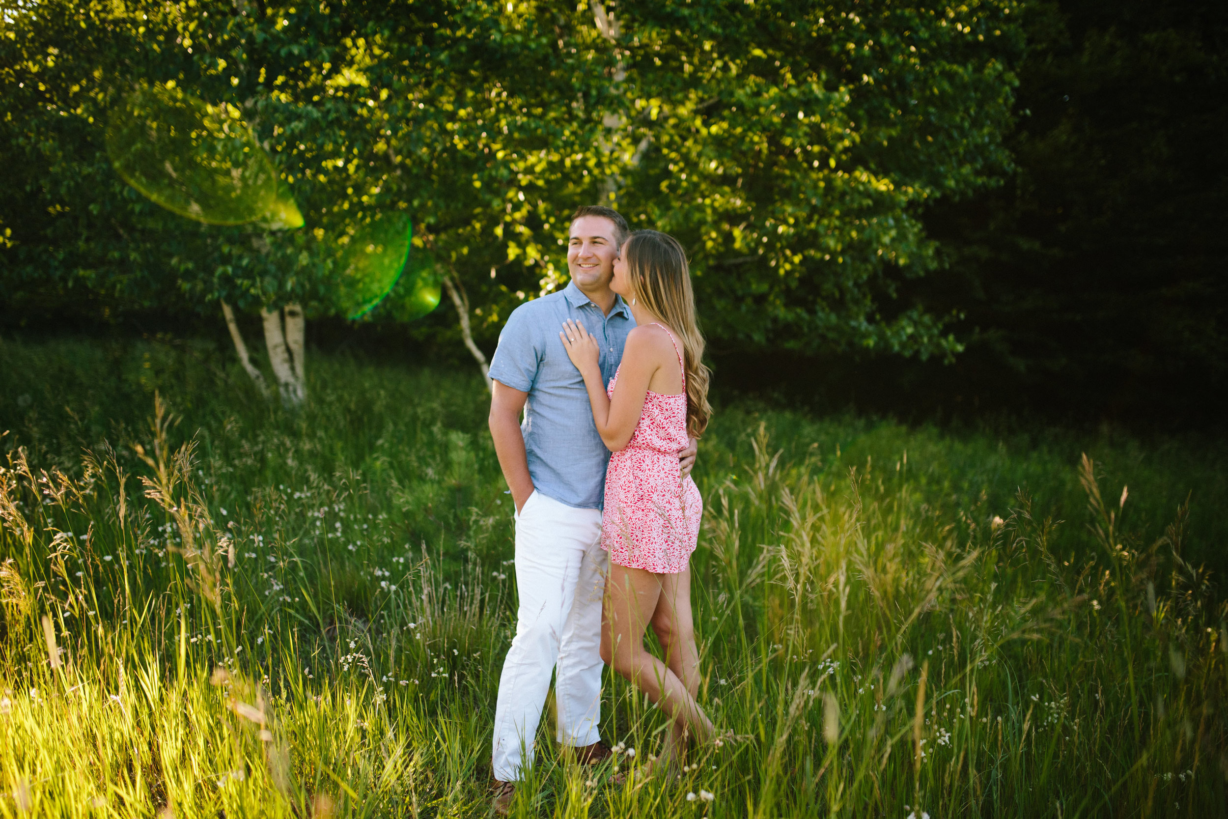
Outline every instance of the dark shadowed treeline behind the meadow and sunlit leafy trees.
[[[1228, 6], [1025, 6], [1014, 168], [923, 214], [946, 264], [898, 303], [962, 313], [954, 362], [739, 352], [712, 338], [717, 384], [905, 419], [1007, 411], [1065, 422], [1218, 426], [1228, 376]], [[220, 320], [125, 313], [96, 296], [4, 308], [9, 332], [196, 332]], [[108, 312], [109, 311], [109, 312]], [[441, 309], [409, 327], [314, 322], [322, 349], [467, 361]], [[494, 347], [495, 333], [479, 343]]]

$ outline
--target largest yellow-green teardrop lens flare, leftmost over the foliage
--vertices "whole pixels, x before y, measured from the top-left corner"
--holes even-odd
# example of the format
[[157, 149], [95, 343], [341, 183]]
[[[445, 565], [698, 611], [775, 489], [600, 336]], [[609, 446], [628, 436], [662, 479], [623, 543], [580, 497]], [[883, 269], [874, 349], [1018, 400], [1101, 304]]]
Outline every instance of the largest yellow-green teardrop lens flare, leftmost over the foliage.
[[124, 182], [179, 216], [302, 227], [298, 206], [238, 113], [177, 87], [142, 86], [111, 112], [107, 155]]

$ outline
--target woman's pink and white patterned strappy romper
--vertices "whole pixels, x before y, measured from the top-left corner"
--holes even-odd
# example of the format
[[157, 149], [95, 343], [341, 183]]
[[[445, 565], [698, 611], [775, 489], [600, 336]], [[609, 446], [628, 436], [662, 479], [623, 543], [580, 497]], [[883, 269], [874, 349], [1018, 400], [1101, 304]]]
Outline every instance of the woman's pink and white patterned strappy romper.
[[[695, 481], [690, 475], [682, 478], [678, 467], [678, 452], [688, 443], [686, 368], [673, 333], [657, 327], [666, 330], [678, 352], [683, 392], [663, 395], [650, 389], [631, 440], [610, 456], [602, 549], [619, 566], [677, 575], [686, 569], [699, 541], [704, 500]], [[610, 398], [618, 376], [615, 372], [605, 390]]]

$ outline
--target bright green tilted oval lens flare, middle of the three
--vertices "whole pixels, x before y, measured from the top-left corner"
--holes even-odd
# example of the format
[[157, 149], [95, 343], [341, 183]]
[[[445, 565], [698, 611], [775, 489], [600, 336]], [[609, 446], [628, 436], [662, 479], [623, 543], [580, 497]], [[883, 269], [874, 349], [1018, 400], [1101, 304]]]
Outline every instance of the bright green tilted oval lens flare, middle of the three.
[[376, 214], [350, 236], [343, 255], [343, 305], [361, 318], [383, 301], [409, 262], [414, 228], [404, 214]]

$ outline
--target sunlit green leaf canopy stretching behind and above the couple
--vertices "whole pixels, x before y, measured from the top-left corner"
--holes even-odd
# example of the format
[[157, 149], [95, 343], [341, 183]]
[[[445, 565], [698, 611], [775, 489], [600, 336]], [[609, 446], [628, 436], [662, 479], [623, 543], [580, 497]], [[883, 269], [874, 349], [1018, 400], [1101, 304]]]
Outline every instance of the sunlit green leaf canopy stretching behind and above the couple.
[[[0, 38], [0, 140], [20, 168], [0, 286], [333, 313], [339, 255], [394, 211], [491, 340], [564, 284], [576, 204], [613, 196], [684, 238], [709, 332], [729, 343], [959, 349], [947, 317], [895, 296], [936, 264], [919, 208], [1009, 165], [1013, 2], [594, 9], [21, 7]], [[101, 123], [141, 82], [238, 112], [306, 228], [201, 228], [124, 185]], [[406, 297], [373, 317], [406, 314]]]

